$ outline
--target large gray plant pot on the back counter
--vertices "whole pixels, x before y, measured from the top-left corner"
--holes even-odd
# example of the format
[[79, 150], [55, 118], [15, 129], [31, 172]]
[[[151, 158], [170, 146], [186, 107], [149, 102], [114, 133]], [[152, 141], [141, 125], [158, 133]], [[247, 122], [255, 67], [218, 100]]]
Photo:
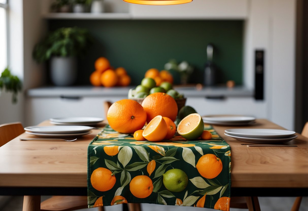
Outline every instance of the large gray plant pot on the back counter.
[[52, 57], [50, 74], [51, 81], [56, 86], [73, 85], [77, 78], [77, 59], [75, 57]]

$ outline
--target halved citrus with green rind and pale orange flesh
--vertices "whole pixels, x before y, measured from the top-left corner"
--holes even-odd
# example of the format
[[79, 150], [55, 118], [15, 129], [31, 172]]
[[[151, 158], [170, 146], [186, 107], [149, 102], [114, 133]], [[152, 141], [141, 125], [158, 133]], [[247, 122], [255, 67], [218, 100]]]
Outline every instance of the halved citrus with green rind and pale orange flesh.
[[176, 128], [177, 132], [187, 140], [195, 140], [201, 136], [204, 123], [198, 113], [189, 114], [184, 117]]

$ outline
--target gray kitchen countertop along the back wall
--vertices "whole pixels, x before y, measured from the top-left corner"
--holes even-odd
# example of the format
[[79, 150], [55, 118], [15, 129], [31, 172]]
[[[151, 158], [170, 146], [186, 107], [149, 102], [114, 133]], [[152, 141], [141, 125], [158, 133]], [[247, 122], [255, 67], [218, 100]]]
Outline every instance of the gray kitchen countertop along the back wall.
[[[28, 97], [127, 97], [128, 90], [136, 86], [127, 87], [93, 87], [93, 86], [46, 86], [33, 88], [26, 91]], [[253, 90], [243, 86], [227, 87], [203, 87], [197, 90], [196, 86], [175, 86], [180, 94], [185, 97], [225, 98], [225, 97], [253, 97]]]

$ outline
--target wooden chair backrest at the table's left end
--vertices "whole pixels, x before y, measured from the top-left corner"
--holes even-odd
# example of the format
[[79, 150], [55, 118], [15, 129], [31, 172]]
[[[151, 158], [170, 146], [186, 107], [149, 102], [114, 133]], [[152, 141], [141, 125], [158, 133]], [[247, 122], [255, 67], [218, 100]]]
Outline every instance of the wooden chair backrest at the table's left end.
[[0, 125], [0, 146], [6, 144], [24, 131], [21, 122], [12, 122]]

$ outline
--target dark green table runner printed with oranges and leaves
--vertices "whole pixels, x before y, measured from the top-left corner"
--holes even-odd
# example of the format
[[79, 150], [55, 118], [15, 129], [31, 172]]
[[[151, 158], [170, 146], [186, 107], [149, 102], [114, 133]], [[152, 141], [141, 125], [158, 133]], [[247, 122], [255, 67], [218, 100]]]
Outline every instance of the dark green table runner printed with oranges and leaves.
[[107, 125], [88, 146], [88, 207], [154, 203], [229, 210], [230, 146], [211, 125], [208, 141], [136, 141]]

